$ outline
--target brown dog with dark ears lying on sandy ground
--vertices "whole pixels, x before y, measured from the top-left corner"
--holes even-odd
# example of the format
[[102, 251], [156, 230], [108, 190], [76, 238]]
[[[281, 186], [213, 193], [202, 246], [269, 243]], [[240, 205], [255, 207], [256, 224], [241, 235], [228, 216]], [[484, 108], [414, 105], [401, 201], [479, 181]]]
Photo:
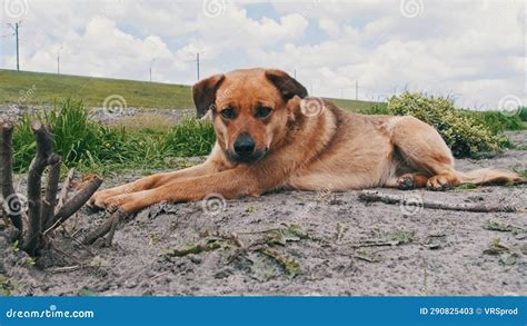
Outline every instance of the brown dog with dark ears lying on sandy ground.
[[331, 191], [372, 187], [443, 190], [463, 182], [519, 180], [508, 171], [459, 172], [450, 149], [412, 117], [364, 116], [308, 98], [279, 70], [212, 76], [192, 88], [210, 110], [217, 141], [202, 165], [98, 191], [90, 205], [137, 211], [152, 204], [259, 196], [276, 188]]

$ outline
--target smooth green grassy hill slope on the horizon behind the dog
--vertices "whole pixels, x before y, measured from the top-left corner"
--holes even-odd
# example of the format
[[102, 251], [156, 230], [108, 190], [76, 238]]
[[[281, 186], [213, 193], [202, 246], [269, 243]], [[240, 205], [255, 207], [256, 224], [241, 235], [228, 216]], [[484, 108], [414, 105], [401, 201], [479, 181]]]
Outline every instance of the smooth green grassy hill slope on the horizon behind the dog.
[[[30, 71], [0, 70], [0, 105], [51, 106], [68, 97], [81, 99], [88, 107], [102, 107], [110, 95], [122, 96], [128, 107], [192, 108], [190, 87], [125, 79], [108, 79]], [[336, 105], [360, 110], [368, 101], [330, 99]]]

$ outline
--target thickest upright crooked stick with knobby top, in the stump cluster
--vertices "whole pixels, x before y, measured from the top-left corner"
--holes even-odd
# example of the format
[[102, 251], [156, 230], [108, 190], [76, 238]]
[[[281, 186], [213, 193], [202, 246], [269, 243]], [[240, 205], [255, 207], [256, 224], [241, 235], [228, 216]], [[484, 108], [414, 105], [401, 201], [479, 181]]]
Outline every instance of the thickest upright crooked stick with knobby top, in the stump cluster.
[[41, 178], [53, 148], [53, 136], [40, 121], [31, 124], [31, 129], [37, 141], [37, 155], [31, 161], [28, 172], [29, 227], [24, 250], [34, 256], [39, 248], [42, 229]]

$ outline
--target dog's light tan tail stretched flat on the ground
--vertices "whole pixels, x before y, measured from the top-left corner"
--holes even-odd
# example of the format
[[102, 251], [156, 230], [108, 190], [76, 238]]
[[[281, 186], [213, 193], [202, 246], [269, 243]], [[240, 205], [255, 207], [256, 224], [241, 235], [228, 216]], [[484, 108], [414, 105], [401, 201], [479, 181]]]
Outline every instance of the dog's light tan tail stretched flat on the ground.
[[526, 178], [523, 178], [513, 171], [489, 168], [471, 170], [468, 172], [456, 171], [456, 176], [460, 184], [514, 185], [526, 182]]

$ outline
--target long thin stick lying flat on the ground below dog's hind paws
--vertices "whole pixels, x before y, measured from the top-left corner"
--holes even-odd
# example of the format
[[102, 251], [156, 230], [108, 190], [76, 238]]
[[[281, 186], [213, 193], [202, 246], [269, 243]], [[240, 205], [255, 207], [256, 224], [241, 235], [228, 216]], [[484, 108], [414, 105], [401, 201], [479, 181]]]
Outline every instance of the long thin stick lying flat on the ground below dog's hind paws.
[[508, 205], [485, 205], [485, 204], [451, 204], [440, 201], [422, 200], [420, 202], [407, 201], [406, 196], [382, 194], [379, 191], [365, 190], [359, 195], [359, 199], [366, 202], [380, 201], [391, 205], [422, 206], [430, 209], [460, 210], [474, 213], [515, 213], [517, 208]]

